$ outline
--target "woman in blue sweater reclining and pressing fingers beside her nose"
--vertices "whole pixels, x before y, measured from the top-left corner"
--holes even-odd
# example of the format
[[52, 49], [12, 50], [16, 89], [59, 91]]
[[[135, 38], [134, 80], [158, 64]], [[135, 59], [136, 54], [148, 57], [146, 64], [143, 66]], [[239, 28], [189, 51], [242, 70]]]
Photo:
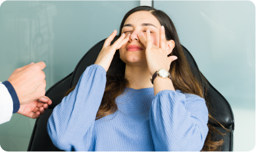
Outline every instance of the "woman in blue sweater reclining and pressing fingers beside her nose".
[[208, 134], [202, 85], [170, 18], [136, 7], [110, 45], [115, 36], [116, 30], [53, 110], [47, 124], [53, 144], [65, 151], [201, 151], [221, 145]]

